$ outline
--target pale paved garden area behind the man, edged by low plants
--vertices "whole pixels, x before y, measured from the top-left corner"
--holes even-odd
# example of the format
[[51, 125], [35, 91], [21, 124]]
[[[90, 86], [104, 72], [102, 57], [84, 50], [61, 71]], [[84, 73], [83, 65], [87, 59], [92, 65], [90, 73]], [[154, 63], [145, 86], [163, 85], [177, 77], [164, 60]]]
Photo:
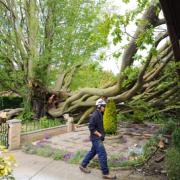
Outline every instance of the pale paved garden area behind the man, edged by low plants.
[[[124, 131], [127, 129], [128, 128], [124, 128]], [[143, 128], [141, 128], [141, 131], [143, 131], [142, 129]], [[131, 128], [131, 131], [133, 131], [133, 128]], [[145, 141], [147, 141], [147, 139], [143, 138], [142, 136], [123, 135], [113, 139], [106, 138], [104, 145], [106, 147], [108, 156], [111, 156], [119, 153], [125, 153], [135, 148], [141, 149]], [[36, 143], [37, 142], [35, 142], [35, 144]], [[66, 150], [71, 153], [79, 150], [88, 151], [91, 148], [91, 142], [89, 141], [89, 130], [87, 126], [76, 128], [75, 132], [46, 138], [44, 141], [42, 141], [42, 143], [48, 144], [53, 148]]]

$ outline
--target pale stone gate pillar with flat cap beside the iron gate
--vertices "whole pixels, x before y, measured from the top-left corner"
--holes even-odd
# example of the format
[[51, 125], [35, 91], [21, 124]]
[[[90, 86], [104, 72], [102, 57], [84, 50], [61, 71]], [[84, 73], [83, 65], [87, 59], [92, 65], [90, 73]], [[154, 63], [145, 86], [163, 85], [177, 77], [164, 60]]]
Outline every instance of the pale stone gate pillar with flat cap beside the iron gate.
[[8, 143], [9, 150], [14, 150], [20, 148], [20, 138], [21, 138], [21, 120], [12, 119], [7, 121], [9, 125], [8, 133]]

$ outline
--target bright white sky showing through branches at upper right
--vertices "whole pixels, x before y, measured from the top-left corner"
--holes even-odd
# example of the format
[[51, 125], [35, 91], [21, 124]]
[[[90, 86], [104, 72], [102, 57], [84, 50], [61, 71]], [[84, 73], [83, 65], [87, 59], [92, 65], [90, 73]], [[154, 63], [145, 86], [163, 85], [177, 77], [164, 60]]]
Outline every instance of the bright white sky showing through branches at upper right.
[[[122, 0], [107, 0], [107, 4], [108, 5], [107, 5], [106, 12], [117, 13], [117, 14], [125, 14], [126, 11], [135, 9], [137, 7], [136, 0], [130, 0], [128, 4], [123, 3]], [[159, 18], [163, 18], [162, 12], [160, 13]], [[136, 30], [136, 26], [133, 23], [128, 25], [126, 29], [128, 34], [131, 34], [132, 36], [135, 33], [135, 30]], [[155, 29], [155, 35], [159, 34], [160, 32], [164, 32], [166, 30], [167, 30], [166, 25], [161, 25]], [[101, 63], [101, 66], [103, 67], [104, 70], [112, 71], [114, 74], [117, 74], [120, 71], [121, 57], [119, 57], [118, 59], [115, 59], [111, 56], [111, 54], [115, 51], [119, 51], [123, 54], [123, 51], [121, 51], [120, 45], [117, 45], [117, 46], [113, 45], [111, 35], [109, 36], [108, 40], [109, 40], [109, 48], [105, 49], [106, 60]], [[169, 38], [166, 38], [163, 41], [161, 41], [161, 43], [159, 43], [158, 45], [158, 49], [162, 46], [162, 44], [164, 44], [165, 41], [168, 41], [168, 40]], [[127, 43], [128, 41], [126, 40], [126, 38], [124, 38], [122, 40], [121, 45], [125, 45]], [[149, 47], [146, 46], [146, 47], [147, 47], [146, 50], [141, 51], [141, 52], [138, 51], [138, 54], [142, 56], [146, 56], [147, 50], [150, 48], [150, 46]], [[139, 66], [140, 64], [141, 63], [139, 61], [135, 61], [133, 65]]]

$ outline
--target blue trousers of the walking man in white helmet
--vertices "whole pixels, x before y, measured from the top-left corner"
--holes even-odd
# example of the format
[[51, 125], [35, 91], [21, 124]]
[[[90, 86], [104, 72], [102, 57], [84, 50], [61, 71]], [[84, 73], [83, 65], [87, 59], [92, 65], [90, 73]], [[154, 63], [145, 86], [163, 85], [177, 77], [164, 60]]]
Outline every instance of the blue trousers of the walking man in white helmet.
[[86, 154], [84, 160], [82, 161], [81, 165], [83, 167], [86, 167], [90, 160], [93, 159], [95, 155], [98, 155], [100, 167], [102, 170], [102, 173], [104, 175], [109, 174], [109, 169], [107, 166], [107, 153], [105, 150], [105, 147], [103, 145], [103, 142], [100, 139], [93, 139], [92, 140], [92, 148], [91, 150]]

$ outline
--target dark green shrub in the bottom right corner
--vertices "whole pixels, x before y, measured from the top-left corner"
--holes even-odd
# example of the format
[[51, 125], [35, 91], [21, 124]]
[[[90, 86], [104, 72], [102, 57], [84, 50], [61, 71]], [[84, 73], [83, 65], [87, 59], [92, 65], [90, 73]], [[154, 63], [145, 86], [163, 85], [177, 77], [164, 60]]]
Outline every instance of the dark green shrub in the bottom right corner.
[[175, 148], [168, 149], [166, 153], [166, 170], [170, 180], [179, 180], [180, 177], [180, 151]]

